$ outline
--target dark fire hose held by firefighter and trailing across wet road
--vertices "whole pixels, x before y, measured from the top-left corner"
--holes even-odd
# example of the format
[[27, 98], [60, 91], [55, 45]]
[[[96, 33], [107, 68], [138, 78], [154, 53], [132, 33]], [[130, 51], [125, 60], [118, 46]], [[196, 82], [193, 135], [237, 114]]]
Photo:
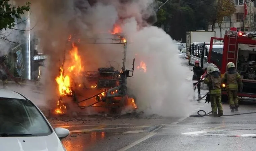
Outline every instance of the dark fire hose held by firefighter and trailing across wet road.
[[[202, 78], [200, 81], [198, 81], [198, 83], [194, 86], [194, 88], [202, 82], [202, 79], [205, 77], [206, 75], [206, 72], [202, 75]], [[199, 100], [202, 100], [204, 97], [206, 97], [210, 92], [207, 92], [202, 98], [198, 99]], [[210, 102], [211, 100], [209, 100], [209, 98], [206, 97], [205, 99], [205, 102]], [[203, 112], [204, 114], [200, 114], [200, 112]], [[203, 117], [203, 116], [210, 116], [210, 113], [212, 113], [212, 111], [206, 113], [204, 110], [199, 110], [197, 111], [197, 115], [189, 115], [190, 117]], [[247, 112], [247, 113], [237, 113], [237, 114], [230, 114], [230, 115], [222, 115], [222, 116], [235, 116], [235, 115], [243, 115], [243, 114], [255, 114], [256, 112]]]

